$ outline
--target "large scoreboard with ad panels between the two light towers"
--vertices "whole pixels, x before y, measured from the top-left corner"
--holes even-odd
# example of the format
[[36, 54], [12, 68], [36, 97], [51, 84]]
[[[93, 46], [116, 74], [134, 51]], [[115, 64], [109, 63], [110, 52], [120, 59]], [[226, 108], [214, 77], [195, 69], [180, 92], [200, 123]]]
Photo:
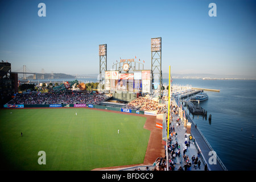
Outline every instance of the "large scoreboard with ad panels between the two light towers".
[[134, 73], [105, 71], [105, 90], [110, 93], [150, 93], [151, 87], [150, 70]]

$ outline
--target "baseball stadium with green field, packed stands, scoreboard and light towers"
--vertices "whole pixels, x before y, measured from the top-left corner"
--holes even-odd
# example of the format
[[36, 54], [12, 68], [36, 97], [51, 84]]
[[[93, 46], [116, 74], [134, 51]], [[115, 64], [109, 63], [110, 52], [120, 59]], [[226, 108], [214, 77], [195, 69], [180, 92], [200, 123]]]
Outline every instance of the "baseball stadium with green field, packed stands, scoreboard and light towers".
[[[167, 113], [162, 38], [151, 39], [150, 69], [136, 57], [108, 69], [106, 44], [99, 45], [99, 57], [93, 93], [84, 83], [65, 81], [51, 93], [16, 94], [3, 105], [1, 169], [159, 170]], [[10, 65], [1, 67], [2, 78], [13, 75]], [[80, 90], [72, 90], [75, 84]]]

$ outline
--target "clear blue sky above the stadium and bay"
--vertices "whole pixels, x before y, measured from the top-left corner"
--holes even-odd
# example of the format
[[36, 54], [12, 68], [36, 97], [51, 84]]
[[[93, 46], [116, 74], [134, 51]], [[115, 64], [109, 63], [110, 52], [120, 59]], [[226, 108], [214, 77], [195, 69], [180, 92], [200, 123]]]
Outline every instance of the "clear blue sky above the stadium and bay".
[[[46, 4], [46, 17], [38, 4]], [[209, 3], [217, 16], [210, 17]], [[82, 75], [99, 72], [98, 45], [108, 68], [122, 59], [151, 68], [151, 38], [162, 37], [162, 71], [256, 78], [255, 1], [0, 2], [0, 60], [12, 71]]]

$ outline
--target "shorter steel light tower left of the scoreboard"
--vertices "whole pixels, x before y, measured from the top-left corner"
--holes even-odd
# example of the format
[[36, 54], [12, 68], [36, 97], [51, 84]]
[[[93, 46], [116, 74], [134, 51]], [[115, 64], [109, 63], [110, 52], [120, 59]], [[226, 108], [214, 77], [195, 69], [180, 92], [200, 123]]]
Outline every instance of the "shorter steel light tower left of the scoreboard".
[[100, 56], [100, 81], [103, 81], [107, 70], [107, 44], [98, 46], [98, 55]]

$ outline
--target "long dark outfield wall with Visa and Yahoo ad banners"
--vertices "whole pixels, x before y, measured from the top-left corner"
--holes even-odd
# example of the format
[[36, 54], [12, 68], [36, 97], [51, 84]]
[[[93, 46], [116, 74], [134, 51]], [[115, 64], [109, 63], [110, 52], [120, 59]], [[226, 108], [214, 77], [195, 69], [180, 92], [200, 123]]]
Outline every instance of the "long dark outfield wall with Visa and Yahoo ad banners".
[[92, 105], [92, 104], [24, 104], [24, 105], [3, 105], [4, 108], [10, 109], [19, 109], [19, 108], [55, 108], [55, 107], [90, 107], [96, 109], [106, 109], [106, 110], [114, 110], [121, 111], [124, 113], [136, 113], [136, 114], [144, 114], [144, 111], [134, 110], [134, 109], [123, 109], [121, 107], [112, 107], [112, 106], [102, 106], [102, 105]]

